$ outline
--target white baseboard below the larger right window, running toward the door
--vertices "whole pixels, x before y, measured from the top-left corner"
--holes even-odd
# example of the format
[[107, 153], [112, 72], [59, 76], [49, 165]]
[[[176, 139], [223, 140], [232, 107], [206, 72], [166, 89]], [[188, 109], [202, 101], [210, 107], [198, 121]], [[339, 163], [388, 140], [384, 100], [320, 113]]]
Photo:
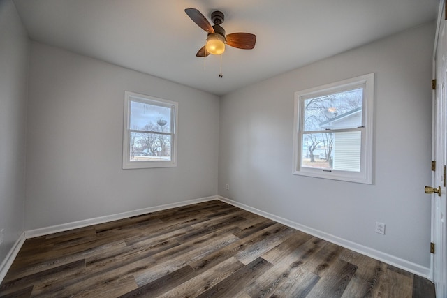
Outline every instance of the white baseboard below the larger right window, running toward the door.
[[316, 230], [314, 228], [307, 227], [306, 225], [301, 225], [300, 223], [295, 223], [293, 221], [289, 221], [286, 218], [281, 218], [279, 216], [275, 216], [274, 214], [270, 214], [268, 212], [247, 206], [246, 204], [242, 204], [240, 202], [235, 202], [233, 200], [223, 198], [219, 196], [219, 200], [222, 202], [226, 202], [228, 204], [232, 204], [235, 207], [239, 207], [241, 209], [250, 211], [254, 214], [258, 214], [265, 218], [270, 218], [272, 221], [277, 221], [278, 223], [282, 223], [283, 225], [287, 225], [288, 227], [294, 228], [295, 230], [300, 230], [301, 232], [305, 232], [307, 234], [311, 234], [312, 236], [318, 237], [320, 239], [330, 241], [333, 244], [337, 244], [344, 248], [348, 248], [351, 251], [356, 251], [361, 253], [362, 255], [367, 255], [368, 257], [374, 258], [376, 260], [386, 262], [389, 265], [393, 265], [400, 269], [404, 269], [413, 274], [417, 274], [418, 276], [425, 277], [430, 279], [430, 268], [420, 266], [416, 263], [409, 262], [408, 260], [404, 260], [402, 258], [398, 258], [394, 255], [389, 255], [388, 253], [383, 253], [382, 251], [377, 251], [374, 248], [369, 248], [367, 246], [363, 246], [361, 244], [357, 244], [356, 242], [349, 241], [346, 239], [342, 239], [340, 237], [334, 236], [332, 234], [328, 234], [326, 232], [322, 232], [320, 230]]

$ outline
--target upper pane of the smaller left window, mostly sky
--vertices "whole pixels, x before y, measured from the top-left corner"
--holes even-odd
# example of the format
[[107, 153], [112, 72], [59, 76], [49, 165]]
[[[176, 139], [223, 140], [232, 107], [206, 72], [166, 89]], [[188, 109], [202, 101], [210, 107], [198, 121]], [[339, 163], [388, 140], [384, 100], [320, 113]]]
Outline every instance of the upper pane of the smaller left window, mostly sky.
[[170, 107], [131, 101], [131, 129], [170, 133]]

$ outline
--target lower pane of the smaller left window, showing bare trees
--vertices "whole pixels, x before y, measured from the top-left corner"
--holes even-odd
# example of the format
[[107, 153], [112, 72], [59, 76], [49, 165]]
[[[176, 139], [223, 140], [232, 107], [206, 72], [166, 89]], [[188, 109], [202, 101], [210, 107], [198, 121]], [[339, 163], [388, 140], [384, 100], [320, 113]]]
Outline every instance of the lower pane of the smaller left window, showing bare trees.
[[131, 132], [130, 161], [170, 161], [171, 136]]

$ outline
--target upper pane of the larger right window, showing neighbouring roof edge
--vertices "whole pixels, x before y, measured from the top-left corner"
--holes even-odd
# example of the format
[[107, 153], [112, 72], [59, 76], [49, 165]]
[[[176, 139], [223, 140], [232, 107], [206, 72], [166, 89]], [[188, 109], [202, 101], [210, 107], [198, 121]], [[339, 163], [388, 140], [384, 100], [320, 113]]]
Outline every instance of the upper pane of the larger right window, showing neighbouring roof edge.
[[304, 100], [304, 131], [362, 126], [363, 88]]

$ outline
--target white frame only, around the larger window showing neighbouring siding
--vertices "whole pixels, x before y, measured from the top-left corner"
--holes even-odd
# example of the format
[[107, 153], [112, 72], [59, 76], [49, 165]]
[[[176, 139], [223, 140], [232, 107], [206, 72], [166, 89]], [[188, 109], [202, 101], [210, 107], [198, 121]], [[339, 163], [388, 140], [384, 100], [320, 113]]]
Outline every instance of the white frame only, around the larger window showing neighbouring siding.
[[[351, 131], [361, 131], [360, 172], [342, 170], [323, 170], [321, 168], [302, 167], [303, 103], [307, 98], [342, 92], [353, 87], [364, 87], [362, 105], [362, 126]], [[323, 179], [372, 184], [372, 148], [374, 117], [374, 73], [353, 77], [323, 86], [295, 92], [295, 115], [293, 128], [293, 174]], [[336, 132], [338, 130], [335, 130]], [[346, 130], [341, 130], [346, 131]]]

